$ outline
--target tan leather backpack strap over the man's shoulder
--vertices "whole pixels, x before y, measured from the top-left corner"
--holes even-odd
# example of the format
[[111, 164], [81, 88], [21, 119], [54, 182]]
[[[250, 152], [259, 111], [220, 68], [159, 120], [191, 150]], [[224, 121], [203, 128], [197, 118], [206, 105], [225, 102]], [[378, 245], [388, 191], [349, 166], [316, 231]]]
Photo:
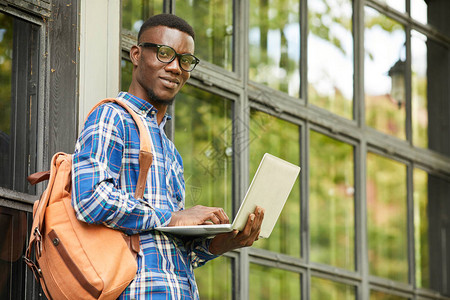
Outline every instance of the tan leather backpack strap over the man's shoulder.
[[[144, 125], [141, 118], [132, 110], [124, 101], [119, 100], [117, 98], [106, 98], [97, 103], [91, 111], [88, 113], [88, 116], [100, 105], [108, 102], [114, 102], [122, 106], [124, 109], [128, 111], [128, 113], [133, 117], [134, 122], [136, 123], [139, 129], [140, 136], [140, 150], [139, 150], [139, 177], [136, 184], [136, 190], [134, 192], [134, 197], [136, 199], [142, 199], [145, 191], [145, 183], [147, 182], [147, 174], [153, 162], [153, 154], [151, 149], [151, 140], [150, 136], [147, 133], [147, 126]], [[86, 117], [87, 118], [87, 117]]]

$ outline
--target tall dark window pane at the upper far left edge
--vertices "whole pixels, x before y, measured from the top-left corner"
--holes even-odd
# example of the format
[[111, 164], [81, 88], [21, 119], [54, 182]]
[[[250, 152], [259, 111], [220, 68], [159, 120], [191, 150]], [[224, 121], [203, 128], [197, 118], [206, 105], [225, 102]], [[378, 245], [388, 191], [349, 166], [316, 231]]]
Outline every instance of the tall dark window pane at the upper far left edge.
[[0, 187], [34, 193], [36, 172], [39, 30], [0, 13]]

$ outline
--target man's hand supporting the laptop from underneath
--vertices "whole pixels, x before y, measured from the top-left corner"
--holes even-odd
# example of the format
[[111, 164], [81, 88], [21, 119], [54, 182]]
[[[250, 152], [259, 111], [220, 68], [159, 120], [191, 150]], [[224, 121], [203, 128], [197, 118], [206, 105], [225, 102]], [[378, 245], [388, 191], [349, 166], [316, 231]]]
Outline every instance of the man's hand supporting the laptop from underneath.
[[248, 215], [247, 224], [242, 231], [234, 230], [216, 235], [209, 245], [209, 252], [221, 255], [225, 252], [253, 245], [259, 238], [264, 209], [257, 206], [254, 213]]

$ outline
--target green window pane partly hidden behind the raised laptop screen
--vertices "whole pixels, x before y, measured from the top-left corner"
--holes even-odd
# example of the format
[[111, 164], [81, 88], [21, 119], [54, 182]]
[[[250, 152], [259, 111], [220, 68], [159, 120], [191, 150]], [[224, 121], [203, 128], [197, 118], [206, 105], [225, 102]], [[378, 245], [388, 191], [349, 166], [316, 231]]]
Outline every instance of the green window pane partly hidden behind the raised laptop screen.
[[[250, 178], [264, 155], [270, 153], [300, 165], [300, 130], [297, 125], [263, 112], [250, 113]], [[254, 247], [300, 256], [300, 180], [294, 184], [270, 238]]]

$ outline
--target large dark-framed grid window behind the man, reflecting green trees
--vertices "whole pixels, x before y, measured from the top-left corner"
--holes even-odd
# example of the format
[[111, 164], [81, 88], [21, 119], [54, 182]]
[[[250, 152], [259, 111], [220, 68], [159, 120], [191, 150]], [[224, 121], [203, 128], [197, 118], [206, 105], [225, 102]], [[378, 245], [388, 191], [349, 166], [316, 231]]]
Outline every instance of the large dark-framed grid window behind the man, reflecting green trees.
[[125, 90], [148, 16], [196, 31], [167, 128], [187, 206], [232, 216], [266, 152], [302, 168], [269, 239], [195, 271], [202, 299], [450, 295], [449, 4], [432, 2], [122, 1]]

